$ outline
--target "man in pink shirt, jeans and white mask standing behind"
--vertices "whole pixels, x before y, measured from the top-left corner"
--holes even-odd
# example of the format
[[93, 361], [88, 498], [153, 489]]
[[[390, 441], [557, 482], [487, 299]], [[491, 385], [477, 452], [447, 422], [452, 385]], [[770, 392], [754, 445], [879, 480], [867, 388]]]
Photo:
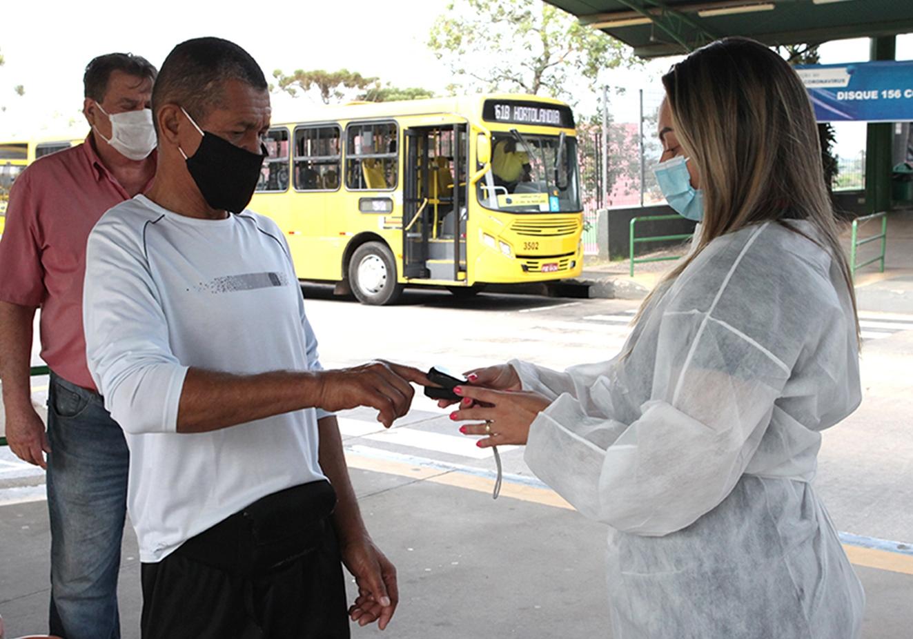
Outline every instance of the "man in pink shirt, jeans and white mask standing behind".
[[[84, 143], [41, 158], [16, 179], [0, 240], [6, 439], [16, 456], [47, 468], [50, 632], [67, 639], [121, 636], [117, 574], [129, 453], [86, 366], [82, 286], [92, 227], [152, 183], [156, 73], [131, 54], [89, 63], [83, 113], [92, 131]], [[47, 435], [29, 384], [36, 309], [41, 357], [51, 369]]]

